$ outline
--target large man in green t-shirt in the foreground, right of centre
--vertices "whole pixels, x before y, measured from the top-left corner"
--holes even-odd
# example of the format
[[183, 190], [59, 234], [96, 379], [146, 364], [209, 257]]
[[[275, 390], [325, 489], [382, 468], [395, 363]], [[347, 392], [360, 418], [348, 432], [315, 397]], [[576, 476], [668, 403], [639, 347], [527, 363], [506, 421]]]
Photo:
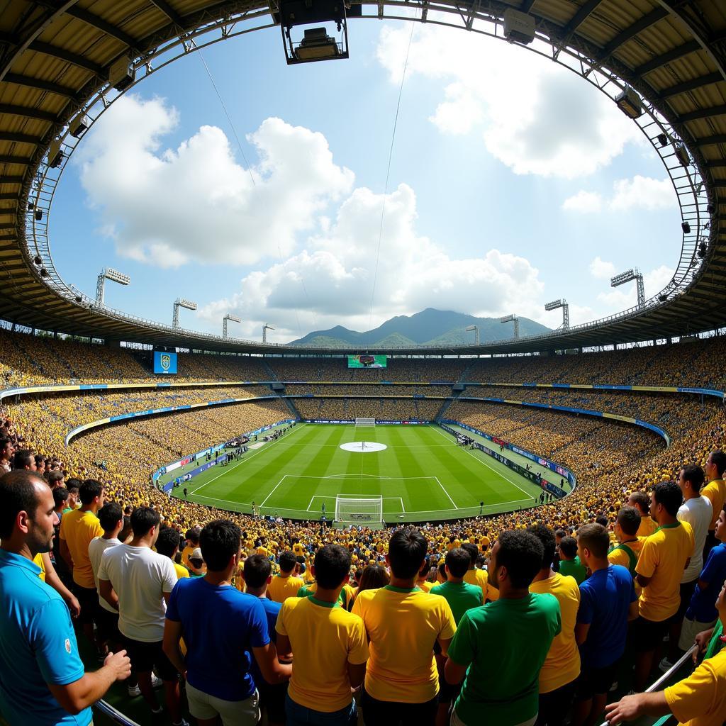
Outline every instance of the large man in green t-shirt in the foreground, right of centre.
[[562, 628], [554, 595], [529, 592], [542, 566], [542, 542], [523, 530], [506, 531], [492, 548], [489, 582], [499, 600], [467, 611], [446, 661], [446, 681], [466, 676], [452, 726], [531, 726], [539, 707], [539, 670]]

